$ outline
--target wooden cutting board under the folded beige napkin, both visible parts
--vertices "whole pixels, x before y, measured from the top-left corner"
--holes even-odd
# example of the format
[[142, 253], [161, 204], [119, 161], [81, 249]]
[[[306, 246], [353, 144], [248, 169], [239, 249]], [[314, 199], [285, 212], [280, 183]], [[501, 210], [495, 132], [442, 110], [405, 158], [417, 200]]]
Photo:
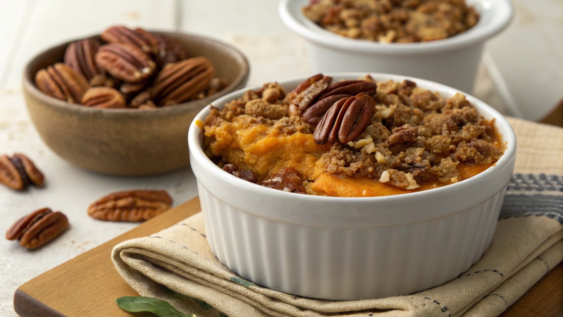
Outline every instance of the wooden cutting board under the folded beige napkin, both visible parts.
[[[84, 252], [21, 285], [14, 294], [14, 310], [22, 317], [155, 316], [129, 313], [115, 298], [137, 296], [111, 262], [111, 250], [125, 240], [153, 234], [200, 211], [199, 199], [172, 208], [135, 229]], [[563, 264], [556, 266], [503, 317], [557, 317], [563, 310]]]

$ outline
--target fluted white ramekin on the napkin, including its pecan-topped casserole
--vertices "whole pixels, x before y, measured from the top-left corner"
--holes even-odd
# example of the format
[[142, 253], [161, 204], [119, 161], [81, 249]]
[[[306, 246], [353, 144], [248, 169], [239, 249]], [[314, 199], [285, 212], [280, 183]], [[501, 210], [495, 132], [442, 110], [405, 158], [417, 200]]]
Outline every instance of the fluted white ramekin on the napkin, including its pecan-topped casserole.
[[256, 284], [328, 300], [463, 273], [491, 243], [516, 160], [516, 136], [489, 105], [379, 73], [233, 92], [195, 117], [188, 142], [218, 259]]

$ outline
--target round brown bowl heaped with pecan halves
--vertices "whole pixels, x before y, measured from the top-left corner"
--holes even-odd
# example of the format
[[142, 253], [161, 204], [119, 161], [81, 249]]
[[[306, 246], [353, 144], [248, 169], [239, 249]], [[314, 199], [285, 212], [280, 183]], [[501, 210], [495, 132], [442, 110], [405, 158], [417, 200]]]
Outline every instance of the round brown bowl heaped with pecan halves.
[[246, 57], [205, 37], [113, 26], [35, 56], [23, 90], [43, 141], [75, 166], [140, 176], [189, 165], [189, 123], [245, 86]]

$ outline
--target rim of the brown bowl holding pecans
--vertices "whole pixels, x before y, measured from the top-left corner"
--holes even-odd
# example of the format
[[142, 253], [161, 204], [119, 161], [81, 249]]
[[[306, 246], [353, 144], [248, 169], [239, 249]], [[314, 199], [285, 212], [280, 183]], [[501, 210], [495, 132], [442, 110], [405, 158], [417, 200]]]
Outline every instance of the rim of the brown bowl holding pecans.
[[[53, 106], [57, 106], [60, 107], [62, 109], [66, 109], [66, 110], [71, 110], [71, 111], [84, 111], [85, 113], [107, 113], [107, 114], [138, 114], [138, 115], [146, 115], [146, 114], [152, 114], [152, 115], [160, 115], [163, 114], [164, 111], [166, 111], [166, 113], [169, 112], [182, 112], [185, 110], [191, 110], [191, 108], [198, 107], [201, 104], [209, 104], [209, 102], [217, 99], [218, 97], [221, 97], [223, 95], [225, 95], [226, 93], [224, 93], [225, 91], [229, 91], [229, 90], [233, 90], [234, 88], [238, 87], [241, 83], [245, 83], [245, 81], [248, 80], [248, 77], [250, 75], [250, 64], [248, 62], [247, 57], [244, 55], [244, 53], [242, 51], [240, 51], [238, 48], [236, 48], [235, 46], [226, 43], [220, 39], [217, 38], [213, 38], [213, 37], [208, 37], [207, 35], [201, 35], [201, 34], [195, 34], [195, 33], [191, 33], [191, 32], [170, 32], [167, 30], [153, 30], [150, 29], [148, 30], [151, 33], [155, 33], [155, 34], [162, 34], [162, 35], [187, 35], [188, 37], [191, 38], [198, 38], [202, 41], [209, 41], [211, 43], [213, 43], [213, 45], [217, 46], [217, 47], [222, 47], [224, 48], [227, 52], [229, 52], [229, 54], [231, 56], [234, 56], [236, 60], [238, 60], [240, 62], [240, 64], [242, 65], [242, 72], [240, 72], [235, 80], [231, 83], [229, 83], [229, 85], [227, 85], [227, 87], [223, 88], [222, 90], [213, 93], [213, 95], [211, 96], [207, 96], [203, 99], [198, 99], [198, 100], [192, 100], [192, 101], [188, 101], [188, 102], [182, 102], [181, 104], [177, 104], [177, 105], [173, 105], [173, 106], [166, 106], [166, 107], [157, 107], [157, 108], [152, 108], [152, 109], [131, 109], [131, 108], [94, 108], [94, 107], [86, 107], [83, 106], [81, 104], [73, 104], [70, 102], [67, 102], [65, 100], [60, 100], [57, 99], [55, 97], [51, 97], [49, 95], [47, 95], [46, 93], [42, 92], [41, 90], [39, 90], [39, 88], [37, 88], [37, 86], [35, 86], [35, 82], [34, 82], [34, 74], [31, 74], [31, 70], [30, 68], [30, 64], [32, 64], [33, 62], [37, 61], [39, 59], [39, 57], [41, 57], [41, 55], [43, 55], [44, 53], [46, 53], [47, 51], [52, 50], [53, 48], [56, 47], [60, 47], [60, 46], [68, 46], [68, 44], [74, 42], [74, 41], [78, 41], [80, 39], [86, 39], [86, 38], [93, 38], [93, 37], [99, 37], [100, 33], [97, 34], [92, 34], [92, 35], [87, 35], [84, 37], [80, 37], [80, 38], [74, 38], [71, 39], [69, 41], [64, 41], [64, 42], [60, 42], [57, 43], [55, 45], [49, 46], [47, 48], [45, 48], [44, 50], [41, 50], [37, 53], [35, 53], [35, 55], [33, 57], [31, 57], [24, 66], [23, 69], [23, 75], [21, 78], [21, 82], [22, 82], [22, 87], [23, 90], [31, 93], [35, 98], [37, 99], [42, 99], [42, 100], [46, 100], [46, 102], [50, 105]], [[61, 61], [62, 62], [62, 61]], [[28, 74], [30, 74], [28, 77]], [[222, 95], [221, 95], [222, 93]], [[173, 110], [176, 109], [176, 110]]]

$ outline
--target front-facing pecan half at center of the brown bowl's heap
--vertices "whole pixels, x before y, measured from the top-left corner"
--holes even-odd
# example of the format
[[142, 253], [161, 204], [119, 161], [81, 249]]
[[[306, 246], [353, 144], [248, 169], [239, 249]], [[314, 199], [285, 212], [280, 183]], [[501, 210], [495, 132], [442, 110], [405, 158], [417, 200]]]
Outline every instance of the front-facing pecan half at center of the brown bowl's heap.
[[144, 81], [157, 67], [149, 55], [137, 46], [127, 43], [102, 45], [95, 59], [96, 64], [113, 77], [130, 83]]

